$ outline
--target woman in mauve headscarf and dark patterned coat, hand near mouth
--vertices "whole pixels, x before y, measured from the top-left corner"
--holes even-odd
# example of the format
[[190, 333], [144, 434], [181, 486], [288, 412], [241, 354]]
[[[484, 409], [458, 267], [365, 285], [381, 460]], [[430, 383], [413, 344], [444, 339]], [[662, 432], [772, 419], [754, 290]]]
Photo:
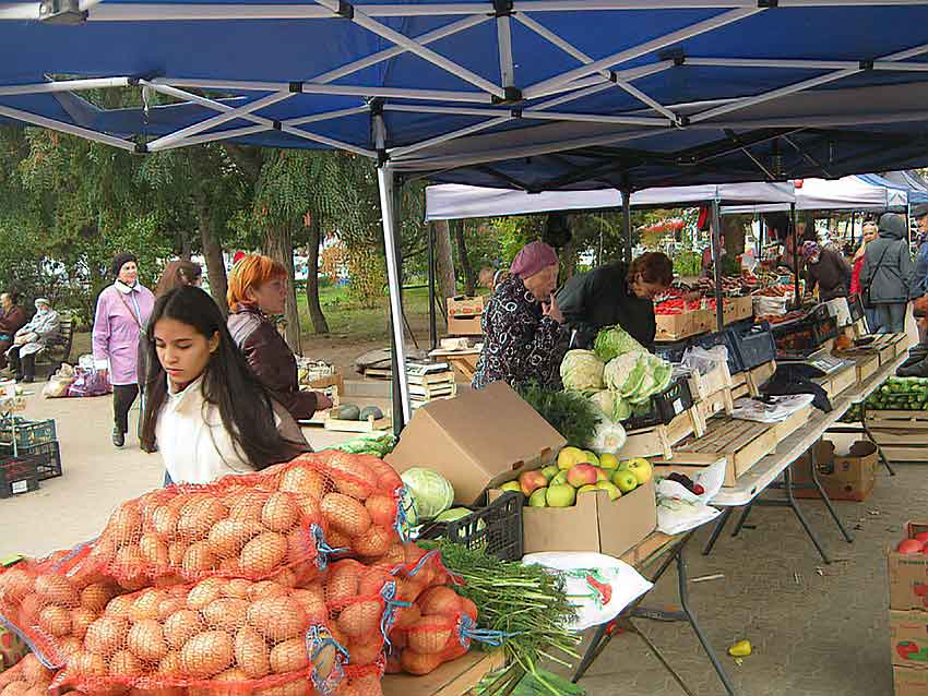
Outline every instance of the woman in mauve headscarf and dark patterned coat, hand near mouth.
[[474, 388], [498, 381], [510, 385], [554, 381], [558, 371], [555, 348], [563, 323], [554, 296], [557, 283], [555, 250], [544, 242], [523, 247], [484, 309], [484, 349]]

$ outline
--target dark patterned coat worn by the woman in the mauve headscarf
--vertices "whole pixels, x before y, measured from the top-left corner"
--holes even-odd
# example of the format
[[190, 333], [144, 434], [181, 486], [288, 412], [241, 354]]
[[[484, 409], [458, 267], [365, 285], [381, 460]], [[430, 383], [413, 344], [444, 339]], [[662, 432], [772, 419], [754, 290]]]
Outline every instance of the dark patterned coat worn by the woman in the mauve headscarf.
[[473, 386], [502, 380], [511, 386], [537, 381], [549, 384], [558, 371], [555, 348], [561, 327], [542, 313], [542, 305], [517, 276], [502, 280], [484, 309], [484, 349]]

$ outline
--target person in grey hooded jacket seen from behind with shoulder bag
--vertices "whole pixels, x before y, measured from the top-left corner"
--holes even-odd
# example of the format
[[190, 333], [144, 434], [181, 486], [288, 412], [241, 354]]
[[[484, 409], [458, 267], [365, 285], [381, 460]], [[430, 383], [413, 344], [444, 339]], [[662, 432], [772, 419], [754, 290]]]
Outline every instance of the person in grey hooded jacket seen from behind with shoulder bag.
[[883, 334], [905, 331], [905, 308], [913, 296], [914, 275], [905, 218], [884, 213], [880, 217], [880, 236], [867, 244], [860, 268], [864, 307], [877, 312], [878, 326], [871, 326], [870, 331]]

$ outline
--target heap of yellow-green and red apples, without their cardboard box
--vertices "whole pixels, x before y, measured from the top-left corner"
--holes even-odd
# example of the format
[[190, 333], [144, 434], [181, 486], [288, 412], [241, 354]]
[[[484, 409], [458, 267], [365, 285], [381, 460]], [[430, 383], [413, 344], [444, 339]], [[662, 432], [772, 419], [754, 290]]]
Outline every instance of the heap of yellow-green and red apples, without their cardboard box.
[[619, 461], [612, 454], [596, 456], [588, 449], [564, 447], [556, 465], [523, 471], [500, 488], [521, 492], [530, 507], [570, 507], [576, 504], [578, 495], [595, 491], [606, 491], [610, 501], [618, 500], [651, 477], [647, 459]]

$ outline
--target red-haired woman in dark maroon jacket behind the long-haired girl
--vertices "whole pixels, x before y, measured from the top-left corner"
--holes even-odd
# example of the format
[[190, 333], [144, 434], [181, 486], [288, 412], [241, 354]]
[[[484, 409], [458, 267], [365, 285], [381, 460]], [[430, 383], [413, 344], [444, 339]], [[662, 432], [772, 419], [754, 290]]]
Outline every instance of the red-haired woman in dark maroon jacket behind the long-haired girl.
[[255, 254], [241, 259], [229, 275], [228, 325], [233, 340], [273, 398], [296, 420], [308, 420], [332, 406], [324, 394], [301, 392], [294, 353], [267, 320], [283, 314], [287, 301], [284, 266]]

